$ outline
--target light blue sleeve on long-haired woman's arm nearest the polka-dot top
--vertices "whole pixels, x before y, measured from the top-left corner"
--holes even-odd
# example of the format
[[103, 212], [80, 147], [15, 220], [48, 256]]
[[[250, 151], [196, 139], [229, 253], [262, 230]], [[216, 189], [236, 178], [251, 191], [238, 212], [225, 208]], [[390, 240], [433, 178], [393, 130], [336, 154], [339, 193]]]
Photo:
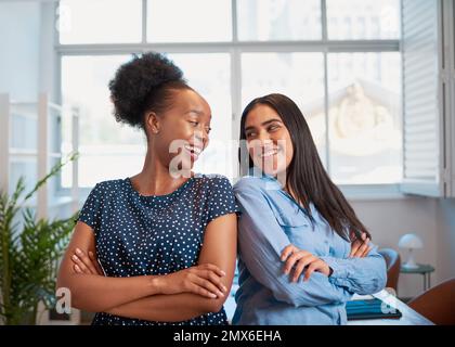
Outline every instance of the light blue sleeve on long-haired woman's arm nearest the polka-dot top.
[[309, 281], [292, 283], [283, 272], [283, 249], [289, 239], [277, 223], [266, 196], [252, 184], [236, 184], [240, 205], [239, 256], [251, 275], [268, 287], [277, 300], [298, 306], [320, 306], [348, 301], [352, 293], [314, 272]]

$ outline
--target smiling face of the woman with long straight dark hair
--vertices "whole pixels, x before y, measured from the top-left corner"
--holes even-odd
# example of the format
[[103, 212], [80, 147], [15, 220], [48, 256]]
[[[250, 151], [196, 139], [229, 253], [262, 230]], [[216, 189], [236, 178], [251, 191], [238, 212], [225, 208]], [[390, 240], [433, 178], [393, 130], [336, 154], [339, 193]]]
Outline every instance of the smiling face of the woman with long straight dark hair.
[[270, 176], [286, 171], [292, 160], [294, 146], [289, 131], [274, 108], [257, 104], [246, 116], [245, 138], [255, 166]]

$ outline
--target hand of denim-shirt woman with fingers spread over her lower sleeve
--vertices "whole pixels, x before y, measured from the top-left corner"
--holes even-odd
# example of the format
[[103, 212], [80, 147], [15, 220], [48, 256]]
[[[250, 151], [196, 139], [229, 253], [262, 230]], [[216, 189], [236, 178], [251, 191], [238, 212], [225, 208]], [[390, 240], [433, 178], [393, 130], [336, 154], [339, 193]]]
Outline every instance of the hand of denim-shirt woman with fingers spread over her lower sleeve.
[[286, 274], [290, 273], [290, 270], [295, 267], [294, 272], [289, 275], [291, 282], [297, 282], [306, 268], [303, 281], [308, 281], [314, 271], [322, 272], [327, 277], [332, 273], [330, 267], [324, 260], [307, 250], [299, 249], [292, 244], [283, 249], [281, 260], [286, 261], [284, 267], [284, 273]]

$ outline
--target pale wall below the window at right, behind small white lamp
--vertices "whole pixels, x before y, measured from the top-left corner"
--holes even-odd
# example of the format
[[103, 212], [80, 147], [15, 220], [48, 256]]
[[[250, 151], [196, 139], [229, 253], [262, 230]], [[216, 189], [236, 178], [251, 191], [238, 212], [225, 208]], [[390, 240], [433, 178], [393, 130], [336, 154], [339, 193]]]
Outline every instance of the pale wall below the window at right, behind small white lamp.
[[[415, 252], [417, 262], [435, 268], [431, 285], [455, 277], [455, 200], [404, 197], [381, 201], [352, 201], [358, 216], [369, 228], [373, 242], [380, 247], [398, 247], [400, 236], [413, 232], [424, 242]], [[419, 274], [400, 274], [399, 296], [413, 297], [422, 291]]]

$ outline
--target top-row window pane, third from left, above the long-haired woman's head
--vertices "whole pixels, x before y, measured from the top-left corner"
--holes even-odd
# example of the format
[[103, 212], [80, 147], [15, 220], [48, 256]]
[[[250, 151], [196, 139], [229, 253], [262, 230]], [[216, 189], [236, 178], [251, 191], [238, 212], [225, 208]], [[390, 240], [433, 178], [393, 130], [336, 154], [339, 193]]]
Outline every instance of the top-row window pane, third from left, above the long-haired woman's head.
[[321, 39], [320, 0], [238, 0], [243, 41]]

